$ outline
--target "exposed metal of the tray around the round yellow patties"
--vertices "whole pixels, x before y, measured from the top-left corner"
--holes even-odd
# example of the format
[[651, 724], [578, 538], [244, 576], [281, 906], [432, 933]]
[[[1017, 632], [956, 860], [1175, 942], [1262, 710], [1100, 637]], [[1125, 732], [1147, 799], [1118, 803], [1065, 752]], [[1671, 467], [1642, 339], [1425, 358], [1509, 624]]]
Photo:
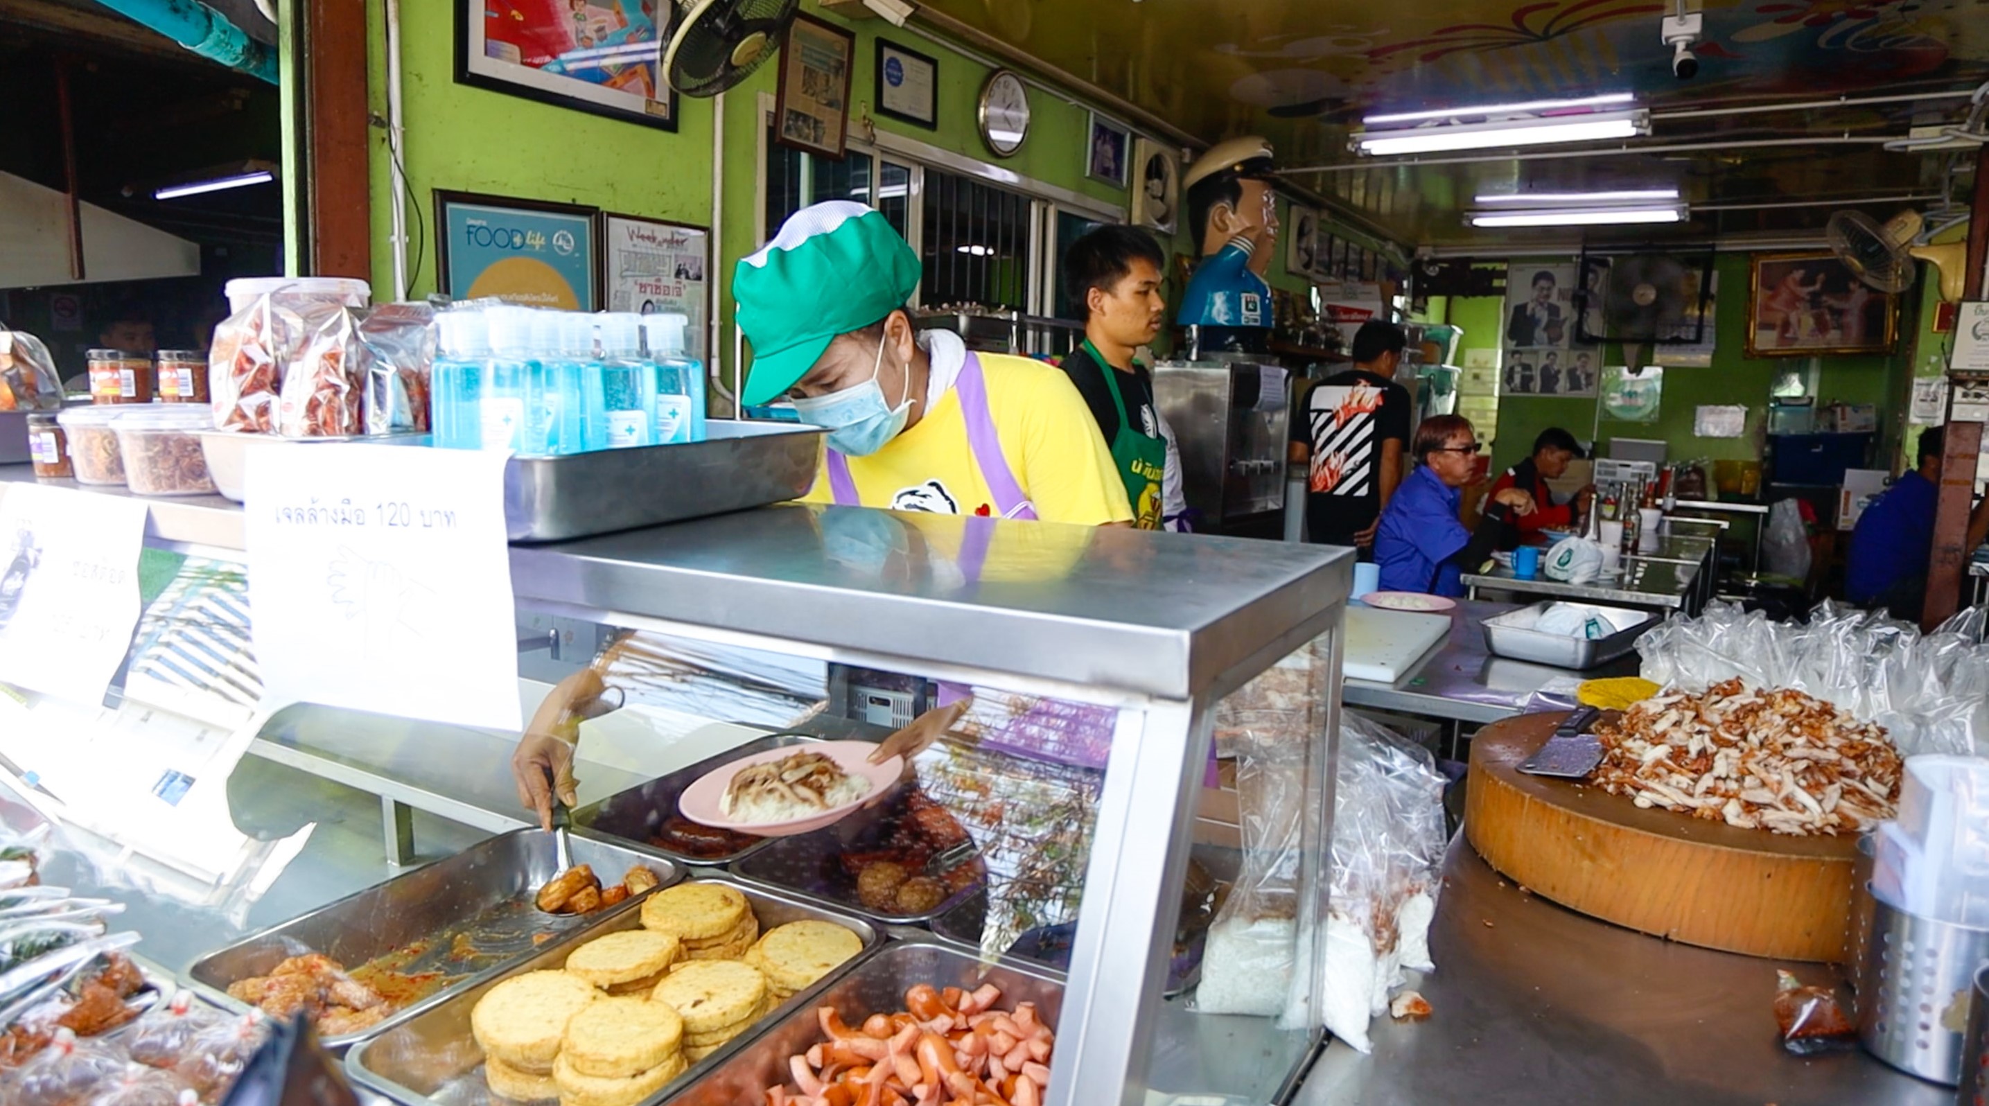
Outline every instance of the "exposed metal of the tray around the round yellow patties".
[[[682, 1080], [696, 1078], [702, 1072], [724, 1064], [728, 1056], [746, 1048], [754, 1038], [760, 1036], [760, 1026], [776, 1024], [776, 1020], [788, 1020], [790, 1014], [808, 1016], [814, 1020], [817, 995], [825, 987], [833, 987], [835, 981], [863, 963], [883, 935], [877, 927], [869, 925], [859, 917], [849, 917], [845, 913], [827, 911], [806, 903], [798, 897], [780, 895], [774, 891], [760, 891], [748, 887], [736, 879], [726, 879], [722, 875], [700, 875], [700, 881], [726, 883], [738, 887], [750, 901], [754, 913], [760, 917], [762, 929], [772, 929], [776, 925], [786, 925], [790, 921], [819, 919], [833, 921], [837, 925], [847, 925], [863, 939], [863, 953], [857, 953], [853, 961], [843, 963], [833, 969], [821, 981], [817, 981], [808, 991], [802, 991], [794, 999], [788, 999], [784, 1007], [778, 1007], [768, 1016], [760, 1018], [760, 1024], [736, 1036], [718, 1052], [712, 1052], [704, 1060], [692, 1064], [686, 1074], [678, 1076], [672, 1086], [682, 1086]], [[642, 917], [636, 911], [625, 911], [617, 917], [605, 919], [601, 925], [593, 925], [579, 933], [569, 933], [555, 945], [547, 945], [539, 955], [531, 957], [521, 965], [513, 965], [513, 971], [539, 971], [557, 969], [567, 963], [567, 955], [581, 943], [607, 933], [619, 933], [623, 929], [634, 929], [642, 925]], [[513, 975], [513, 971], [501, 975]], [[346, 1076], [362, 1086], [378, 1090], [388, 1098], [408, 1104], [436, 1106], [503, 1106], [509, 1100], [491, 1094], [489, 1086], [483, 1082], [483, 1050], [477, 1048], [475, 1038], [469, 1034], [469, 1011], [475, 1009], [477, 1001], [499, 983], [499, 977], [487, 977], [477, 981], [475, 987], [461, 989], [450, 995], [444, 1003], [432, 1007], [420, 1016], [408, 1018], [388, 1032], [378, 1032], [356, 1044], [346, 1052]], [[786, 1060], [784, 1060], [786, 1062]], [[668, 1094], [668, 1090], [664, 1090]], [[660, 1100], [662, 1094], [652, 1098]], [[754, 1098], [754, 1102], [760, 1102]]]

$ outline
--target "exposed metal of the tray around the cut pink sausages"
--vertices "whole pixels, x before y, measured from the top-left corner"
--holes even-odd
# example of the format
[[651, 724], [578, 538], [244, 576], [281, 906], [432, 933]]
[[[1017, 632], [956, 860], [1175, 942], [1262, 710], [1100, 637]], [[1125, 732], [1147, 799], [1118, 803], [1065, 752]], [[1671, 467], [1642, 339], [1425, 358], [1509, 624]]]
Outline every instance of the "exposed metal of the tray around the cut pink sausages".
[[[861, 1024], [869, 1014], [905, 1009], [905, 991], [919, 983], [933, 987], [975, 989], [983, 983], [1000, 987], [1000, 1007], [1034, 1003], [1046, 1024], [1056, 1026], [1064, 1007], [1064, 981], [1014, 961], [996, 965], [937, 941], [893, 941], [877, 955], [859, 963], [827, 991], [790, 1011], [778, 1022], [758, 1032], [754, 1040], [710, 1068], [704, 1078], [664, 1098], [670, 1106], [740, 1106], [766, 1100], [766, 1088], [786, 1086], [788, 1058], [821, 1040], [815, 1007], [835, 1007], [849, 1024]], [[716, 1058], [716, 1056], [714, 1056]], [[1054, 1052], [1050, 1056], [1056, 1060]]]

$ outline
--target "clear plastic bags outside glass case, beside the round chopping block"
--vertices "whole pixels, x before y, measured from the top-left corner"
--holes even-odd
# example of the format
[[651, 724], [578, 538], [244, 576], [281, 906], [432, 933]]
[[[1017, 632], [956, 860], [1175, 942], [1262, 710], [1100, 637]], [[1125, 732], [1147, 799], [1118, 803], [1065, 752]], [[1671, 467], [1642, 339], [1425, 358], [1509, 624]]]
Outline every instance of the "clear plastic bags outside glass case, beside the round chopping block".
[[1303, 1024], [1317, 989], [1325, 1026], [1366, 1052], [1368, 1018], [1408, 971], [1434, 971], [1430, 921], [1444, 861], [1444, 776], [1408, 740], [1353, 714], [1341, 720], [1333, 800], [1333, 889], [1325, 963], [1301, 933], [1285, 1026]]

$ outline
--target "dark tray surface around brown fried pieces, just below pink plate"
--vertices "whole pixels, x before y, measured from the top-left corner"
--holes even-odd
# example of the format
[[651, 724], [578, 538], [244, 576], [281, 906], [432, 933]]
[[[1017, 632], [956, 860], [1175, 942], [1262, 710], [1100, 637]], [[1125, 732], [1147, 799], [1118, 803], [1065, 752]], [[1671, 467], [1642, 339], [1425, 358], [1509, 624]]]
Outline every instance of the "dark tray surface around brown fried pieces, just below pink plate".
[[[740, 857], [732, 865], [732, 873], [748, 883], [782, 887], [817, 903], [855, 911], [889, 925], [933, 921], [979, 893], [983, 879], [977, 877], [959, 891], [951, 891], [929, 911], [879, 911], [857, 897], [857, 877], [843, 865], [845, 855], [881, 853], [905, 843], [899, 828], [907, 820], [905, 802], [909, 798], [911, 788], [897, 788], [883, 804], [857, 810], [835, 826], [815, 830], [814, 833], [776, 837], [766, 847]], [[979, 857], [969, 855], [961, 863], [979, 863]], [[913, 875], [919, 875], [919, 871], [913, 871]]]

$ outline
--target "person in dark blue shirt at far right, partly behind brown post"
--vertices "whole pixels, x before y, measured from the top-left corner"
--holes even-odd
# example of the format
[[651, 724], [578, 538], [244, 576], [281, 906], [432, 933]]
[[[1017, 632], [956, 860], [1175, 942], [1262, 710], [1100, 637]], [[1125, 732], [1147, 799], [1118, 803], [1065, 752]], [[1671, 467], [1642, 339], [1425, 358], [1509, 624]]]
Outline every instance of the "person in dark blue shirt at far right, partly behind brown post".
[[[1919, 436], [1919, 467], [1894, 481], [1858, 515], [1852, 551], [1844, 569], [1844, 595], [1860, 607], [1892, 611], [1896, 619], [1919, 621], [1927, 593], [1927, 561], [1933, 555], [1933, 507], [1941, 497], [1943, 428]], [[1969, 513], [1965, 549], [1973, 551], [1989, 533], [1989, 499]]]

